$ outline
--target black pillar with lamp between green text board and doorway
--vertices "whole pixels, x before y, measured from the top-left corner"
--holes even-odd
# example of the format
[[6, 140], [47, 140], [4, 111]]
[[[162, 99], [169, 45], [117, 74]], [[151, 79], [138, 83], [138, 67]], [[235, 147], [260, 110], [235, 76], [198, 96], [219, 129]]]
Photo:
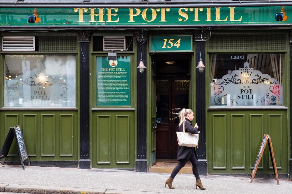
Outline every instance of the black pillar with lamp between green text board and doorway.
[[[140, 63], [140, 57], [142, 53], [142, 60], [144, 65], [147, 66], [147, 40], [148, 34], [145, 32], [136, 32], [137, 41], [137, 64]], [[135, 162], [137, 172], [148, 171], [147, 161], [147, 69], [140, 73], [137, 69], [137, 159]]]

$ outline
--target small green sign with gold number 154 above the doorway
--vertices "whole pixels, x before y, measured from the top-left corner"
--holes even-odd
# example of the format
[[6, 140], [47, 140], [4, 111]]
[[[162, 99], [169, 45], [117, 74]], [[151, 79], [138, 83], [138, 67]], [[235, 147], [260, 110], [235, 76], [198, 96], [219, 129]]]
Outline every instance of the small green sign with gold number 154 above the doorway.
[[193, 51], [192, 35], [150, 36], [150, 52]]

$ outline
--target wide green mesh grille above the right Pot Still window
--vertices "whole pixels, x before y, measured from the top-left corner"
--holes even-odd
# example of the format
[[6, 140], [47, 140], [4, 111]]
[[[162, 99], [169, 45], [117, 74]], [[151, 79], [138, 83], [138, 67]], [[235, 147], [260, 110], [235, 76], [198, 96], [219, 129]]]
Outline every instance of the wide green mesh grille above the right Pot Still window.
[[212, 35], [209, 51], [267, 51], [287, 50], [286, 35]]

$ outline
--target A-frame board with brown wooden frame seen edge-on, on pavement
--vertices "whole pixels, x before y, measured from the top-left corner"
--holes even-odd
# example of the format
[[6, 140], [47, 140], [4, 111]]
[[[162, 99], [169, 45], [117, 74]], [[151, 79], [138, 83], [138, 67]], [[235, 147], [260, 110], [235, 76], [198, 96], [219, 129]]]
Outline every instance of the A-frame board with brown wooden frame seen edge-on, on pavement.
[[250, 183], [252, 183], [253, 178], [255, 177], [255, 172], [259, 167], [259, 162], [261, 161], [262, 154], [264, 153], [267, 142], [269, 145], [269, 152], [270, 152], [270, 156], [271, 156], [271, 160], [272, 160], [272, 166], [273, 166], [273, 170], [274, 170], [275, 180], [277, 181], [277, 184], [280, 185], [275, 156], [274, 156], [274, 150], [273, 150], [273, 146], [272, 146], [272, 140], [271, 140], [269, 135], [264, 135], [264, 137], [262, 139], [261, 147], [259, 148], [259, 152], [258, 152], [258, 155], [257, 155], [256, 160], [255, 160], [255, 165], [253, 166], [252, 174], [250, 175], [250, 178], [251, 178]]

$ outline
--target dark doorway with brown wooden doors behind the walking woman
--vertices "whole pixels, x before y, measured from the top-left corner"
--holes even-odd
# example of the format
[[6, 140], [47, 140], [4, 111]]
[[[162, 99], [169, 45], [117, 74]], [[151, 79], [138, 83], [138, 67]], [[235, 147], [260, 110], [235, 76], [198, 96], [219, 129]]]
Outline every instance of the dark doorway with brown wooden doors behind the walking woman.
[[156, 159], [176, 159], [179, 128], [176, 113], [189, 108], [191, 56], [160, 54], [153, 56], [153, 62], [156, 69]]

